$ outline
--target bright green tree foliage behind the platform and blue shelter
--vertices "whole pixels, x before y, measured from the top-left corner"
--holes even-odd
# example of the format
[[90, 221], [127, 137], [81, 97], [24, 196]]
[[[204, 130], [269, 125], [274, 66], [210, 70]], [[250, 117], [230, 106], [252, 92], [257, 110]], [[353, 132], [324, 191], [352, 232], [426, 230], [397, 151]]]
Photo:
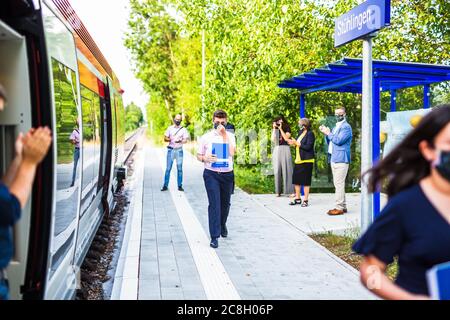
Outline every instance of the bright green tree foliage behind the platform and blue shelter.
[[[133, 55], [136, 74], [152, 97], [148, 106], [152, 132], [162, 133], [173, 114], [180, 110], [191, 133], [192, 123], [205, 130], [211, 127], [210, 116], [217, 108], [228, 112], [237, 129], [270, 131], [272, 119], [279, 114], [295, 129], [298, 92], [280, 89], [277, 84], [345, 56], [360, 57], [361, 42], [334, 48], [333, 37], [334, 19], [358, 3], [356, 0], [132, 0], [126, 45]], [[392, 1], [392, 25], [375, 39], [374, 58], [450, 63], [449, 19], [450, 3], [446, 0]], [[431, 89], [433, 104], [450, 98], [448, 85], [433, 85]], [[383, 117], [389, 111], [389, 94], [383, 93], [381, 99]], [[416, 109], [421, 104], [420, 88], [399, 91], [399, 110]], [[325, 141], [317, 127], [333, 114], [336, 106], [347, 107], [354, 131], [354, 161], [348, 181], [351, 183], [360, 174], [361, 97], [320, 92], [308, 95], [306, 105], [317, 137], [315, 179], [327, 176], [322, 179], [323, 187], [332, 184], [324, 155]], [[295, 130], [293, 133], [296, 134]], [[250, 159], [247, 145], [241, 145], [240, 152]]]

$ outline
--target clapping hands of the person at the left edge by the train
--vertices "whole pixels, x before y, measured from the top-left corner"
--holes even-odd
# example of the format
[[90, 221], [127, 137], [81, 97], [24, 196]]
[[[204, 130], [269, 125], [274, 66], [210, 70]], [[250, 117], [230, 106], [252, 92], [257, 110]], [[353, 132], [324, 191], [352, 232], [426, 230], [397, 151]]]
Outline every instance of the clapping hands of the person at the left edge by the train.
[[23, 138], [23, 161], [38, 165], [48, 152], [52, 142], [48, 127], [39, 127], [29, 131]]

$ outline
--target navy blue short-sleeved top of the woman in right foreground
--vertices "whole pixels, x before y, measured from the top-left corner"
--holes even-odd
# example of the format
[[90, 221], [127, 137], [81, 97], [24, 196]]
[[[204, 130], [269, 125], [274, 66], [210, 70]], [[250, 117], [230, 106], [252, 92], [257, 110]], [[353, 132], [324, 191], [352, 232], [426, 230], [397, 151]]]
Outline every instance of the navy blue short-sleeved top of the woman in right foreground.
[[353, 250], [386, 264], [398, 256], [397, 285], [429, 295], [427, 270], [450, 261], [450, 223], [414, 185], [392, 197]]

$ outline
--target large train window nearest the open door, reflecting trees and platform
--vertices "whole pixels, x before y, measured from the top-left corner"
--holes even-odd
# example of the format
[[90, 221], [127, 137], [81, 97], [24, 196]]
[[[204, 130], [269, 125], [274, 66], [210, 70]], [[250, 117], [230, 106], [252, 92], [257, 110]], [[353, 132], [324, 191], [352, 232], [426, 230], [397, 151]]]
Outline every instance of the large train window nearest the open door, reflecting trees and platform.
[[[80, 133], [78, 93], [75, 71], [52, 58], [53, 92], [56, 120], [56, 207], [52, 253], [70, 249], [77, 223], [79, 193]], [[52, 259], [55, 270], [61, 259]]]

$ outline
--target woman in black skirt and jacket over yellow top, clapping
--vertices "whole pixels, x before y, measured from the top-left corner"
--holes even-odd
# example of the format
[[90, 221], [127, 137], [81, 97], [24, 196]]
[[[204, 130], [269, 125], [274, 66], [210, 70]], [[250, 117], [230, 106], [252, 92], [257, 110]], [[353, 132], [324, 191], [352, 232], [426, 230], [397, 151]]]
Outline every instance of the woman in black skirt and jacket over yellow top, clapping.
[[[314, 142], [315, 136], [311, 131], [311, 122], [307, 118], [298, 121], [300, 134], [297, 140], [290, 139], [289, 145], [295, 147], [295, 165], [292, 174], [292, 183], [295, 188], [295, 198], [289, 203], [294, 206], [300, 204], [302, 207], [308, 206], [309, 189], [311, 187], [312, 170], [314, 166]], [[300, 197], [300, 188], [303, 186], [305, 196]]]

